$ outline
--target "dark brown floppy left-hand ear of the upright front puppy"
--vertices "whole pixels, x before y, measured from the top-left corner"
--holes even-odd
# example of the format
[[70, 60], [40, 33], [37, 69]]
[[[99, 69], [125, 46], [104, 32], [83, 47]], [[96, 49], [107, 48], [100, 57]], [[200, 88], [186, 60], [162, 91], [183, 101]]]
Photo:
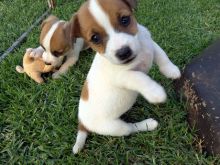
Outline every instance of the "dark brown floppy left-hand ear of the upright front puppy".
[[80, 37], [80, 25], [77, 13], [74, 14], [71, 20], [67, 23], [65, 33], [70, 36], [72, 41]]

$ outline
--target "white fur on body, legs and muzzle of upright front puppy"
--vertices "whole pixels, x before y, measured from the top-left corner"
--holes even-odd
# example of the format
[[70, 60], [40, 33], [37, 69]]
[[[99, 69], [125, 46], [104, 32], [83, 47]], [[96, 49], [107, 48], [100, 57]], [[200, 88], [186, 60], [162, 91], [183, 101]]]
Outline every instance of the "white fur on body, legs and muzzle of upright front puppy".
[[[91, 0], [91, 4], [93, 3], [97, 1]], [[94, 12], [93, 15], [98, 11], [97, 6], [93, 4], [94, 9], [90, 9]], [[97, 15], [101, 15], [100, 11]], [[102, 27], [108, 31], [109, 27], [105, 28], [105, 24]], [[146, 74], [153, 62], [159, 65], [160, 71], [169, 78], [179, 78], [180, 71], [152, 40], [145, 27], [138, 25], [136, 36], [117, 33], [119, 36], [117, 37], [114, 33], [109, 34], [105, 55], [96, 53], [88, 73], [89, 97], [88, 100], [80, 99], [78, 118], [89, 131], [102, 135], [126, 136], [139, 131], [152, 131], [158, 126], [154, 119], [126, 123], [120, 119], [120, 116], [132, 107], [138, 93], [150, 103], [161, 103], [166, 100], [163, 87]], [[117, 43], [128, 41], [126, 44], [136, 53], [136, 58], [132, 62], [120, 65], [108, 58], [109, 54], [114, 56], [112, 50], [117, 47], [117, 44], [114, 44], [115, 39], [119, 40], [115, 41]], [[87, 134], [82, 134], [79, 130], [73, 147], [74, 153], [78, 153], [83, 148], [86, 137]]]

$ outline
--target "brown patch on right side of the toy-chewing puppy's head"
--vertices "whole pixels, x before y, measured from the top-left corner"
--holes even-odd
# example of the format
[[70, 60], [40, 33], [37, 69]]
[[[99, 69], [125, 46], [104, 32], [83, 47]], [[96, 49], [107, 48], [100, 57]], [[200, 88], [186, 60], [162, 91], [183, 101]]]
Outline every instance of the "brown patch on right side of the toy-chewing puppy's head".
[[56, 57], [64, 55], [72, 47], [70, 35], [66, 32], [66, 24], [60, 22], [50, 40], [50, 51]]

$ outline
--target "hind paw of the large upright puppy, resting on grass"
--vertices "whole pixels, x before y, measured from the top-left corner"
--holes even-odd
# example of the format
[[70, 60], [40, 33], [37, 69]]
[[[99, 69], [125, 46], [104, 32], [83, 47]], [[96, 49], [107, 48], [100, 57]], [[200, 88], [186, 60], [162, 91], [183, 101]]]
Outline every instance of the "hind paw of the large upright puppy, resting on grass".
[[138, 131], [153, 131], [157, 128], [158, 122], [152, 118], [135, 123]]

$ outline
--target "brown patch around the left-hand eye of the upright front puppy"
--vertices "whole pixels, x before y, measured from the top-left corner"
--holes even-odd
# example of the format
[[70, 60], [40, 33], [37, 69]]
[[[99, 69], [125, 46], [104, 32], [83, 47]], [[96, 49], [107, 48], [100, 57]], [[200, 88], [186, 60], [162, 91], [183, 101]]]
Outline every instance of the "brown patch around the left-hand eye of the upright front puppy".
[[[89, 1], [85, 2], [77, 13], [79, 36], [85, 39], [85, 42], [93, 50], [103, 54], [108, 41], [108, 35], [105, 30], [96, 22], [88, 9]], [[77, 28], [76, 26], [74, 28]], [[92, 42], [92, 37], [99, 35], [100, 42]]]

